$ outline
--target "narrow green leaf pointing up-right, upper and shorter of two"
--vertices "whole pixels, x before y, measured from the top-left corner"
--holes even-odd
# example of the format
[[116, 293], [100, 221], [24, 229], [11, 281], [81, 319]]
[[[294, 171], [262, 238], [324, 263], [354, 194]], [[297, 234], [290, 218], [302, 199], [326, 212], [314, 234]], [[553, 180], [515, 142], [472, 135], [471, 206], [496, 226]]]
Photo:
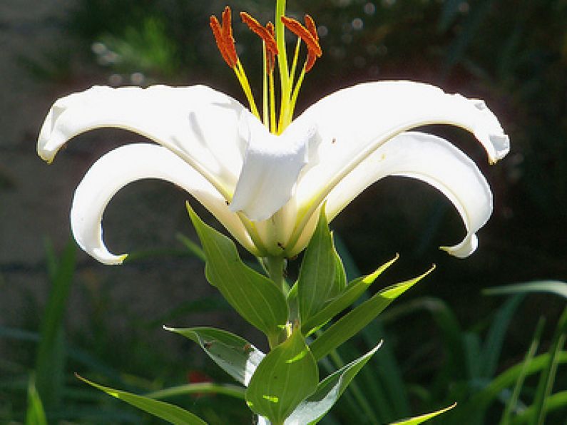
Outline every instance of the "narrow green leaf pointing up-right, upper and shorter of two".
[[[367, 276], [358, 277], [347, 285], [346, 288], [333, 299], [328, 302], [325, 307], [323, 307], [317, 314], [314, 314], [310, 319], [301, 324], [301, 330], [304, 335], [310, 335], [317, 329], [326, 324], [335, 315], [339, 314], [345, 308], [349, 307], [353, 302], [355, 302], [359, 297], [364, 294], [367, 288], [374, 283], [382, 272], [390, 267], [397, 259], [399, 255], [396, 255], [392, 260], [380, 266], [376, 271]], [[342, 264], [341, 264], [342, 265]]]

